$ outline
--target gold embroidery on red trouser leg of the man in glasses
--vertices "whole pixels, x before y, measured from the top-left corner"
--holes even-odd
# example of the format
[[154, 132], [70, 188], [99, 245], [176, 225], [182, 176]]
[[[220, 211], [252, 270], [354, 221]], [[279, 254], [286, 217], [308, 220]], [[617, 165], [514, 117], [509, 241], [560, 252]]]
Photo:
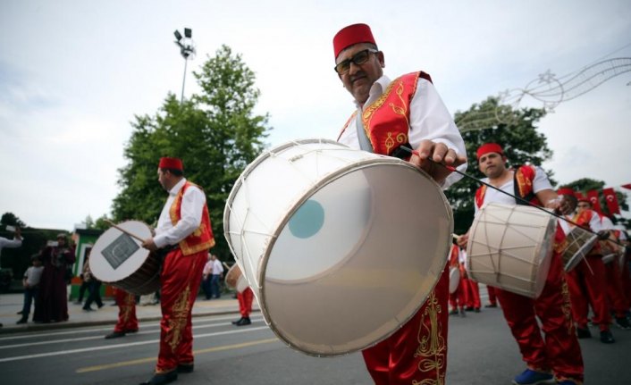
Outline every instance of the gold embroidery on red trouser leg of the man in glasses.
[[[442, 338], [442, 324], [438, 320], [438, 314], [442, 313], [442, 306], [438, 303], [436, 294], [427, 298], [425, 311], [421, 317], [418, 329], [418, 347], [415, 357], [420, 356], [418, 370], [420, 372], [436, 372], [436, 378], [426, 378], [423, 381], [412, 381], [412, 385], [444, 385], [445, 355], [447, 354], [447, 341]], [[425, 325], [425, 317], [429, 318], [430, 326]]]

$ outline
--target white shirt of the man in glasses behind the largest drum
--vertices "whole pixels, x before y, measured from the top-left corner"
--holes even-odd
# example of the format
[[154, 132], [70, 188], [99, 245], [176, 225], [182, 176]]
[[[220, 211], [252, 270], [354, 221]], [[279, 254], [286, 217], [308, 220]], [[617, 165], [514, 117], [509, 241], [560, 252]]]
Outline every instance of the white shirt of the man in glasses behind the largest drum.
[[[422, 140], [429, 139], [433, 142], [444, 143], [458, 155], [466, 155], [465, 142], [462, 140], [458, 127], [456, 127], [456, 123], [451, 118], [447, 107], [442, 103], [441, 96], [438, 95], [436, 88], [428, 80], [419, 78], [416, 81], [416, 93], [409, 105], [408, 141], [410, 146], [416, 149]], [[376, 80], [370, 88], [364, 108], [372, 105], [383, 94], [383, 91], [390, 83], [391, 80], [385, 75]], [[358, 108], [358, 114], [363, 113], [362, 106], [357, 103], [355, 105]], [[352, 148], [360, 148], [355, 119], [349, 121], [349, 126], [342, 132], [338, 141]], [[461, 164], [458, 170], [465, 172], [467, 163]], [[451, 173], [445, 180], [442, 188], [450, 187], [460, 178], [462, 176], [458, 173]]]

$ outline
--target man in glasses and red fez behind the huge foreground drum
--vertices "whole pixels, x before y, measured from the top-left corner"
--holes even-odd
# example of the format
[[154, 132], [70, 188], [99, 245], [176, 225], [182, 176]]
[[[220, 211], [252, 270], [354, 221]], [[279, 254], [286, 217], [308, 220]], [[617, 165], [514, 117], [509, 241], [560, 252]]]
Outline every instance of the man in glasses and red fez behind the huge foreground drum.
[[[429, 160], [461, 166], [461, 170], [467, 167], [464, 142], [429, 75], [416, 71], [396, 80], [385, 76], [385, 56], [366, 24], [341, 29], [333, 38], [333, 51], [334, 71], [353, 96], [356, 108], [338, 140], [352, 148], [406, 159], [408, 154], [399, 146], [416, 148], [420, 156], [412, 155], [408, 161], [442, 188], [459, 180], [458, 174], [450, 175]], [[445, 264], [418, 312], [388, 339], [362, 352], [376, 384], [444, 382], [448, 297], [449, 268]]]

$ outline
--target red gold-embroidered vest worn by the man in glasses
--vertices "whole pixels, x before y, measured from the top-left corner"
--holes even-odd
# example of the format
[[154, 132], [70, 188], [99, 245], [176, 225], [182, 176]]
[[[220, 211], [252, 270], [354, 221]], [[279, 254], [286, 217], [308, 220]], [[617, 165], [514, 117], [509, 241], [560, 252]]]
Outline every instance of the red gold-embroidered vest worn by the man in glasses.
[[[362, 113], [366, 137], [370, 139], [375, 154], [391, 155], [397, 147], [408, 143], [409, 104], [416, 93], [418, 78], [432, 81], [423, 71], [408, 73], [392, 80], [383, 94], [374, 103], [366, 106]], [[340, 137], [356, 114], [357, 112], [350, 116]]]

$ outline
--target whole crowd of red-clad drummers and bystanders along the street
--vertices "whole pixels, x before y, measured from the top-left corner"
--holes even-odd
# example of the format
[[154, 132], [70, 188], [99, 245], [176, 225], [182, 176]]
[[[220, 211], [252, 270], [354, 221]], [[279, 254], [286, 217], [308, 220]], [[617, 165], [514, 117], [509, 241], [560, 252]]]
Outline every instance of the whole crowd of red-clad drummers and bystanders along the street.
[[[366, 24], [341, 29], [333, 38], [334, 71], [354, 101], [354, 112], [343, 126], [338, 141], [352, 148], [405, 159], [429, 175], [443, 189], [459, 180], [467, 168], [465, 143], [451, 114], [442, 103], [432, 78], [415, 71], [391, 80], [384, 72], [385, 56]], [[402, 146], [412, 154], [400, 151]], [[629, 329], [631, 280], [629, 265], [606, 263], [602, 257], [612, 251], [628, 258], [627, 233], [616, 229], [608, 218], [591, 210], [575, 191], [556, 191], [545, 172], [532, 165], [509, 167], [500, 144], [487, 143], [475, 154], [484, 184], [471, 197], [476, 215], [491, 203], [545, 207], [570, 224], [559, 221], [549, 234], [553, 239], [549, 270], [537, 296], [487, 285], [487, 307], [500, 307], [516, 340], [526, 367], [512, 380], [516, 385], [578, 385], [584, 381], [584, 362], [578, 339], [590, 338], [589, 323], [598, 327], [600, 339], [615, 341], [611, 322]], [[447, 165], [448, 167], [444, 167]], [[162, 320], [157, 364], [144, 384], [164, 384], [179, 373], [194, 370], [191, 309], [201, 285], [206, 299], [221, 296], [219, 282], [223, 266], [208, 250], [215, 245], [206, 195], [183, 175], [181, 159], [161, 158], [157, 168], [160, 185], [168, 193], [159, 216], [156, 233], [142, 247], [164, 259], [160, 272]], [[419, 197], [422, 199], [423, 197]], [[599, 239], [571, 271], [566, 271], [563, 251], [573, 227], [593, 231]], [[416, 314], [388, 338], [362, 351], [366, 369], [376, 384], [445, 382], [449, 314], [466, 316], [482, 309], [478, 282], [465, 269], [469, 233], [456, 239], [449, 262]], [[627, 254], [625, 254], [627, 252]], [[628, 261], [628, 260], [627, 260]], [[29, 315], [27, 302], [35, 297], [34, 320], [68, 319], [64, 272], [74, 263], [74, 253], [60, 234], [57, 244], [33, 259], [24, 277], [25, 303], [22, 319]], [[39, 270], [38, 270], [39, 269]], [[458, 272], [457, 288], [450, 288], [450, 272]], [[38, 281], [38, 276], [39, 283]], [[89, 311], [95, 301], [97, 280], [83, 271], [88, 282]], [[89, 284], [93, 280], [93, 284]], [[455, 286], [455, 285], [454, 285]], [[451, 291], [451, 293], [450, 293]], [[28, 293], [28, 294], [27, 294]], [[238, 294], [241, 318], [237, 326], [251, 323], [252, 290]], [[117, 290], [119, 320], [106, 339], [119, 338], [139, 330], [136, 298]], [[593, 318], [588, 319], [591, 306]], [[449, 309], [449, 311], [448, 311]], [[431, 314], [428, 316], [427, 314]], [[612, 315], [613, 314], [613, 318]], [[422, 345], [422, 346], [421, 346]], [[428, 348], [425, 348], [428, 347]], [[516, 364], [517, 366], [517, 364]], [[516, 371], [517, 372], [517, 371]]]

